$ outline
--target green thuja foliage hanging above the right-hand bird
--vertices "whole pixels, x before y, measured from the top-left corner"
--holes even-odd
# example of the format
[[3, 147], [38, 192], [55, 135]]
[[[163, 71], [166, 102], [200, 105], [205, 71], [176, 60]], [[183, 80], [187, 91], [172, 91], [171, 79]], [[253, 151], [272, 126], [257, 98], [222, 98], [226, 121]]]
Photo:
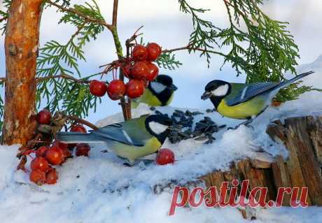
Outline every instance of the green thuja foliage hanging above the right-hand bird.
[[[269, 18], [260, 10], [262, 0], [223, 0], [230, 21], [227, 28], [214, 26], [202, 20], [200, 14], [207, 10], [193, 8], [186, 0], [179, 0], [183, 13], [193, 18], [193, 33], [190, 35], [191, 50], [202, 48], [202, 55], [209, 59], [209, 50], [229, 47], [227, 54], [214, 52], [224, 57], [224, 64], [230, 62], [237, 75], [246, 73], [246, 82], [280, 82], [285, 80], [286, 71], [295, 73], [298, 48], [293, 36], [287, 30], [287, 22]], [[246, 27], [246, 31], [241, 29]], [[281, 90], [277, 100], [296, 99], [311, 87], [299, 87], [300, 82]]]

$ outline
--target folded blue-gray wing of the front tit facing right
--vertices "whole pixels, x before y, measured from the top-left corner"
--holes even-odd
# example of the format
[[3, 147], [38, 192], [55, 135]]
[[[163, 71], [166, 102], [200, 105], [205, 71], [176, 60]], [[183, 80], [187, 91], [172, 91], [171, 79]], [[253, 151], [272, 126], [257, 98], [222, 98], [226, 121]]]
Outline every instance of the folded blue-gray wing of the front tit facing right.
[[151, 136], [150, 134], [147, 135], [145, 125], [141, 124], [144, 120], [133, 119], [127, 122], [110, 124], [93, 130], [91, 133], [126, 145], [144, 146], [146, 138]]

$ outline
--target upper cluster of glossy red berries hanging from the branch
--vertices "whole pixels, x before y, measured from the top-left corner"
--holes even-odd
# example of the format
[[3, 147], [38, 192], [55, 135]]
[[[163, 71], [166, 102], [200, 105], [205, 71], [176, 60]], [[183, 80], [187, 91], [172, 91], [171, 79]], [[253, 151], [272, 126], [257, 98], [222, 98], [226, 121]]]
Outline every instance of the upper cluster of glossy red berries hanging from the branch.
[[112, 80], [109, 85], [99, 80], [90, 82], [90, 92], [95, 96], [109, 95], [116, 101], [127, 95], [135, 99], [144, 94], [144, 89], [149, 81], [155, 80], [159, 74], [159, 68], [153, 62], [161, 55], [161, 47], [157, 43], [148, 45], [136, 45], [132, 50], [132, 59], [123, 64], [121, 69], [129, 82], [125, 84], [122, 80]]

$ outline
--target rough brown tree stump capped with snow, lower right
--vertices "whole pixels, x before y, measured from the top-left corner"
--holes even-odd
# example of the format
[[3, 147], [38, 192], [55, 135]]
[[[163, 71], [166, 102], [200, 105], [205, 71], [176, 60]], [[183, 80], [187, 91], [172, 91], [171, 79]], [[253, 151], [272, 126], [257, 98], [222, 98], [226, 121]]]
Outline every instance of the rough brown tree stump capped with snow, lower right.
[[[219, 188], [222, 182], [233, 179], [249, 180], [250, 190], [267, 187], [267, 201], [276, 201], [279, 187], [308, 187], [309, 206], [322, 206], [322, 117], [290, 117], [284, 123], [277, 120], [269, 124], [266, 132], [286, 146], [286, 160], [277, 156], [237, 161], [229, 171], [202, 176], [200, 179], [206, 187]], [[269, 157], [269, 154], [264, 152], [260, 157]], [[290, 206], [289, 194], [285, 194], [282, 206]]]

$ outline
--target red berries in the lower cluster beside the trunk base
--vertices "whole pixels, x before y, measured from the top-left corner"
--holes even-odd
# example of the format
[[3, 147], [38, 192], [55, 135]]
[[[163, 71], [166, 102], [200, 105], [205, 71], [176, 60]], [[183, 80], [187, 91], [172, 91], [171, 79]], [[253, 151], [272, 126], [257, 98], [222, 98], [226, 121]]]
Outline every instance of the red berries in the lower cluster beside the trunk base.
[[[37, 122], [39, 124], [50, 124], [51, 113], [48, 110], [41, 110], [37, 114]], [[78, 131], [86, 133], [85, 127], [81, 124], [74, 124], [71, 127], [71, 131]], [[31, 172], [29, 179], [31, 182], [35, 182], [37, 185], [54, 185], [57, 182], [58, 174], [55, 168], [63, 164], [67, 158], [72, 157], [73, 148], [76, 147], [76, 156], [88, 156], [90, 152], [90, 145], [86, 143], [79, 144], [66, 144], [59, 141], [54, 141], [51, 146], [43, 145], [36, 150], [27, 150], [25, 154], [31, 157], [31, 153], [35, 153], [36, 157], [31, 157]]]

